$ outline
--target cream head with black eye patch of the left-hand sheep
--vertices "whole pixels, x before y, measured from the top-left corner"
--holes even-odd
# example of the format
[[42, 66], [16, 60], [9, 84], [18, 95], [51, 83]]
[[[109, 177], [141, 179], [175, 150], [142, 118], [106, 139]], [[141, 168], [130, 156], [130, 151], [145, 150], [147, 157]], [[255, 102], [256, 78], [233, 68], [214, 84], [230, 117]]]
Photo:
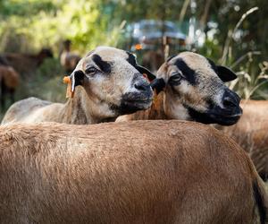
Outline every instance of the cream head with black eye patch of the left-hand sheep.
[[145, 71], [129, 52], [96, 47], [80, 60], [71, 77], [74, 85], [83, 86], [103, 116], [114, 117], [151, 106], [153, 90], [142, 75]]

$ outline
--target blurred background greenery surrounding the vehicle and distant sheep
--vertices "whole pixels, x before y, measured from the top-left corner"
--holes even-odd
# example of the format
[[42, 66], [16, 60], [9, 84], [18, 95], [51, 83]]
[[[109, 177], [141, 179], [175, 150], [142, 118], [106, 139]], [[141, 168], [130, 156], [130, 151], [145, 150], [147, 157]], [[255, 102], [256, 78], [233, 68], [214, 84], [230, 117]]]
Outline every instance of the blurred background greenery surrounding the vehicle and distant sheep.
[[239, 74], [231, 87], [244, 98], [267, 99], [267, 14], [263, 0], [0, 0], [0, 52], [52, 48], [54, 59], [22, 81], [17, 99], [63, 100], [58, 56], [64, 39], [83, 55], [99, 45], [122, 47], [130, 22], [170, 20], [187, 34], [195, 18], [197, 38], [202, 34], [205, 44], [190, 50], [231, 66]]

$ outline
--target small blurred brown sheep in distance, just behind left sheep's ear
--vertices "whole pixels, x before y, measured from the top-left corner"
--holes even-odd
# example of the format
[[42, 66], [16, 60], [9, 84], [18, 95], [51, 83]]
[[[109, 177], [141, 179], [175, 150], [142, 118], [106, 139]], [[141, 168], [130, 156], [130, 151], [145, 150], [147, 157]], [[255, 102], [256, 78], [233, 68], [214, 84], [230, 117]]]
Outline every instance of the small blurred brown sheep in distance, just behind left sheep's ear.
[[76, 53], [71, 52], [71, 40], [66, 39], [63, 42], [63, 52], [61, 53], [61, 65], [66, 73], [71, 73], [76, 65], [78, 65], [81, 57]]

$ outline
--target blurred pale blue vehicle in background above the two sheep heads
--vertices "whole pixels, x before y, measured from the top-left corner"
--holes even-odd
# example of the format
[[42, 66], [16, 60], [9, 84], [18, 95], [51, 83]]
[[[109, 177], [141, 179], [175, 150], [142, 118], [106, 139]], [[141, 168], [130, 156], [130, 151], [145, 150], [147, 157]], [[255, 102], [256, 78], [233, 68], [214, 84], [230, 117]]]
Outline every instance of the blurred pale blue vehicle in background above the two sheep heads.
[[135, 52], [142, 58], [140, 63], [152, 71], [163, 64], [165, 56], [178, 54], [186, 48], [186, 35], [174, 22], [168, 21], [131, 23], [126, 28], [125, 39], [124, 48]]

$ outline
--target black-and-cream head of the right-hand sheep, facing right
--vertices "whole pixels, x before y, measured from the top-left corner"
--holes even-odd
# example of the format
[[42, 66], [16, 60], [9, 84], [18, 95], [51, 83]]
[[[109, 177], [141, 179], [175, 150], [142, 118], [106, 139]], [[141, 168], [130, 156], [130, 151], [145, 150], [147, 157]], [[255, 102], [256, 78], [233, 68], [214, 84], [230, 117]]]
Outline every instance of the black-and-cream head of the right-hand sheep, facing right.
[[236, 77], [204, 56], [191, 52], [173, 56], [157, 72], [157, 79], [165, 83], [166, 115], [205, 124], [235, 124], [242, 114], [240, 99], [224, 82]]

